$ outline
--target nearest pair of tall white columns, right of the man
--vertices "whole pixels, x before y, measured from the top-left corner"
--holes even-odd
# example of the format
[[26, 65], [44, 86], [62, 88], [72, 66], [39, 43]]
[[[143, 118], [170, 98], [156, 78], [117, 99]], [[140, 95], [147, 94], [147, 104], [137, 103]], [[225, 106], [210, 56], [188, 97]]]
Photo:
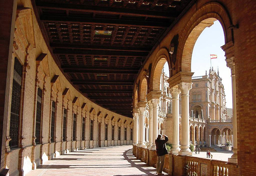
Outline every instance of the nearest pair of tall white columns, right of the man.
[[[192, 155], [189, 149], [189, 90], [192, 88], [192, 83], [179, 83], [172, 87], [173, 100], [173, 148], [170, 153], [179, 155]], [[179, 95], [181, 93], [181, 147], [179, 144]]]

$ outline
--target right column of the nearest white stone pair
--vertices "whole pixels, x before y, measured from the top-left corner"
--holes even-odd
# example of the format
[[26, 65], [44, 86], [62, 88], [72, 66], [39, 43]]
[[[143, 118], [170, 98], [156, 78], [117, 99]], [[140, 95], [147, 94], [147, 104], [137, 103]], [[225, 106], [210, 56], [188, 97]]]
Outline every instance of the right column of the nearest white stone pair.
[[192, 155], [189, 149], [189, 90], [192, 88], [192, 83], [180, 83], [179, 88], [181, 90], [181, 150], [180, 155]]

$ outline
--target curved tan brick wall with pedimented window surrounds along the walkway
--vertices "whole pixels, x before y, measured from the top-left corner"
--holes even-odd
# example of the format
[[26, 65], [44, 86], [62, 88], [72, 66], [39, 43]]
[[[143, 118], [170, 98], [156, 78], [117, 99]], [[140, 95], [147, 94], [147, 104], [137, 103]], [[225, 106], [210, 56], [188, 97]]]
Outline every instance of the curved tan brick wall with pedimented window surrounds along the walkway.
[[[124, 141], [123, 131], [125, 126], [126, 128], [129, 128], [129, 130], [127, 130], [129, 132], [130, 128], [133, 128], [132, 119], [121, 116], [96, 105], [79, 93], [69, 83], [56, 65], [44, 42], [39, 26], [36, 23], [36, 17], [33, 14], [33, 9], [31, 9], [31, 2], [29, 0], [24, 0], [19, 3], [17, 18], [16, 21], [14, 20], [16, 30], [14, 31], [13, 29], [15, 45], [11, 44], [13, 47], [13, 54], [12, 58], [10, 59], [10, 68], [12, 68], [12, 71], [10, 71], [10, 80], [13, 79], [14, 57], [17, 57], [24, 67], [21, 88], [20, 134], [18, 141], [19, 148], [10, 149], [9, 140], [7, 142], [5, 141], [6, 136], [7, 138], [10, 138], [8, 137], [10, 115], [6, 115], [6, 117], [8, 117], [8, 125], [5, 125], [5, 127], [7, 126], [8, 128], [5, 129], [7, 130], [7, 135], [5, 135], [5, 138], [3, 139], [4, 148], [2, 149], [4, 153], [2, 156], [5, 158], [1, 159], [1, 162], [3, 162], [3, 166], [1, 165], [2, 168], [8, 168], [9, 174], [12, 176], [26, 175], [32, 169], [38, 168], [40, 164], [44, 164], [48, 160], [58, 157], [64, 153], [98, 146], [131, 144], [132, 141], [130, 140], [130, 135], [128, 135], [127, 140]], [[28, 8], [20, 8], [23, 5]], [[6, 33], [6, 36], [9, 36], [10, 38], [10, 33]], [[4, 48], [2, 48], [2, 50], [4, 50]], [[2, 56], [4, 56], [4, 53]], [[8, 54], [6, 56], [8, 56]], [[6, 58], [2, 60], [8, 61]], [[5, 63], [3, 62], [2, 65], [4, 64]], [[7, 68], [7, 63], [5, 68]], [[4, 71], [4, 68], [2, 71]], [[2, 80], [6, 80], [6, 78]], [[10, 80], [8, 86], [12, 87], [12, 81]], [[1, 85], [6, 85], [6, 83], [2, 83]], [[37, 144], [35, 125], [38, 88], [42, 90], [42, 111], [40, 137], [39, 143]], [[2, 100], [3, 101], [1, 102], [4, 102], [4, 99]], [[53, 101], [56, 103], [55, 114], [52, 114]], [[82, 107], [81, 105], [84, 106]], [[8, 108], [8, 106], [6, 107]], [[64, 108], [67, 109], [67, 125], [66, 138], [63, 141]], [[89, 110], [92, 111], [89, 112]], [[100, 113], [97, 116], [98, 112]], [[8, 114], [10, 114], [10, 107], [8, 108]], [[76, 124], [74, 124], [74, 126], [73, 114], [76, 114]], [[117, 137], [115, 138], [116, 143], [111, 143], [111, 138], [109, 138], [105, 144], [102, 141], [105, 134], [103, 126], [105, 126], [104, 117], [106, 115], [114, 117], [115, 119], [120, 119], [119, 125], [121, 126], [122, 141], [118, 141]], [[82, 117], [86, 118], [85, 141], [82, 141], [81, 134]], [[52, 118], [54, 118], [55, 121], [52, 121]], [[91, 141], [89, 141], [90, 134], [88, 131], [89, 119], [94, 121], [93, 139]], [[124, 124], [124, 122], [126, 122], [126, 124]], [[98, 123], [101, 124], [101, 132], [98, 132]], [[127, 126], [127, 124], [130, 125]], [[114, 125], [117, 127], [118, 124], [114, 123]], [[74, 127], [76, 128], [76, 138], [73, 138]], [[108, 136], [111, 136], [110, 130], [108, 133]], [[115, 133], [117, 133], [117, 129], [115, 130]], [[5, 145], [7, 145], [7, 150], [5, 150]]]

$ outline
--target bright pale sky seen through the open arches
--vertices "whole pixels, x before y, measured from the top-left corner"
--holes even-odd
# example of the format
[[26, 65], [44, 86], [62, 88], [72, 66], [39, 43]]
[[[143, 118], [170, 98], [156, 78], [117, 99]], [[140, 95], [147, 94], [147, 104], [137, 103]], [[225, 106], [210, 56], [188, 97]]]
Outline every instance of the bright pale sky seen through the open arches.
[[[226, 66], [225, 52], [221, 46], [225, 44], [224, 33], [219, 21], [215, 21], [211, 27], [207, 27], [198, 37], [191, 62], [191, 71], [194, 76], [203, 76], [205, 71], [209, 74], [209, 69], [212, 65], [213, 69], [219, 68], [219, 74], [222, 78], [226, 95], [226, 108], [232, 108], [232, 85], [231, 85], [231, 71]], [[210, 59], [210, 54], [216, 54], [217, 59]], [[164, 65], [164, 72], [169, 75], [167, 62]]]

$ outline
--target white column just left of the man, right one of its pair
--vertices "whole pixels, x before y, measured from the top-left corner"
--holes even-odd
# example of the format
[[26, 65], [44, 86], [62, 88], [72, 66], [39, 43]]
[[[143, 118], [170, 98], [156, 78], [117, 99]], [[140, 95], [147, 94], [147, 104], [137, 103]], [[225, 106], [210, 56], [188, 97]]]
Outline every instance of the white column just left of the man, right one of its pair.
[[156, 150], [155, 139], [158, 136], [158, 104], [159, 99], [152, 99], [153, 105], [153, 138], [151, 150]]

